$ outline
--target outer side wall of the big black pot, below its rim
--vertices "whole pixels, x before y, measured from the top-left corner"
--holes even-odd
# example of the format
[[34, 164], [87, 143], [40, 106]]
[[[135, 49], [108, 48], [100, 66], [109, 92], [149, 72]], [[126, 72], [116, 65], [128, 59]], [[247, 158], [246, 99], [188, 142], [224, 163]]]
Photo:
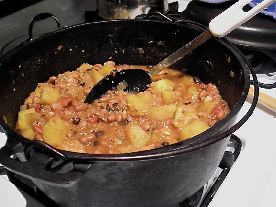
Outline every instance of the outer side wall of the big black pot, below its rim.
[[96, 162], [70, 187], [34, 183], [64, 207], [170, 207], [207, 183], [228, 140], [175, 157]]

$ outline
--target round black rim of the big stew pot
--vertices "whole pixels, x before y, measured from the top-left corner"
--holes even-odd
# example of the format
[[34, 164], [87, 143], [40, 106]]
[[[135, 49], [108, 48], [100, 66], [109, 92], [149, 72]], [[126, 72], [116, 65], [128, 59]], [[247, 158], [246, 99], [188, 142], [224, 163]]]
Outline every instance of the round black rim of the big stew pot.
[[[12, 49], [10, 52], [5, 54], [4, 56], [4, 62], [0, 65], [0, 70], [1, 68], [5, 65], [5, 62], [7, 62], [9, 59], [12, 58], [16, 53], [20, 52], [23, 48], [35, 43], [38, 40], [42, 40], [46, 38], [47, 36], [50, 36], [52, 34], [58, 33], [60, 31], [65, 31], [69, 30], [71, 28], [75, 27], [81, 27], [85, 25], [90, 25], [90, 24], [98, 24], [98, 23], [110, 23], [110, 22], [125, 22], [125, 21], [146, 21], [146, 22], [160, 22], [160, 23], [166, 23], [166, 24], [175, 24], [177, 26], [184, 26], [191, 28], [187, 25], [179, 24], [179, 23], [169, 23], [169, 22], [164, 22], [160, 20], [138, 20], [138, 19], [124, 19], [124, 20], [106, 20], [106, 21], [98, 21], [98, 22], [92, 22], [92, 23], [82, 23], [82, 24], [77, 24], [73, 26], [69, 26], [57, 31], [54, 31], [52, 33], [49, 33], [43, 37], [37, 38], [33, 41], [28, 42], [27, 44], [23, 46], [17, 46], [14, 49]], [[195, 29], [194, 27], [191, 29]], [[201, 28], [198, 28], [200, 32], [204, 31]], [[139, 151], [139, 152], [133, 152], [133, 153], [124, 153], [124, 154], [88, 154], [88, 153], [76, 153], [76, 152], [69, 152], [69, 151], [64, 151], [64, 150], [58, 150], [62, 153], [68, 154], [70, 157], [78, 157], [82, 158], [83, 160], [94, 160], [94, 161], [130, 161], [130, 160], [148, 160], [148, 159], [157, 159], [157, 158], [164, 158], [164, 157], [171, 157], [171, 156], [176, 156], [180, 155], [183, 153], [187, 153], [190, 151], [194, 151], [200, 148], [207, 147], [211, 144], [214, 144], [224, 138], [227, 138], [230, 136], [233, 132], [235, 132], [238, 128], [240, 128], [245, 121], [250, 117], [250, 115], [253, 113], [253, 110], [256, 106], [257, 99], [258, 99], [258, 82], [256, 75], [254, 73], [254, 70], [249, 63], [249, 61], [243, 56], [243, 54], [239, 51], [239, 49], [234, 46], [230, 41], [228, 41], [225, 38], [215, 38], [215, 41], [218, 41], [220, 44], [223, 44], [225, 46], [229, 46], [228, 48], [236, 55], [236, 57], [239, 59], [242, 68], [243, 68], [243, 76], [245, 77], [244, 81], [244, 88], [242, 92], [242, 96], [240, 97], [239, 101], [237, 104], [233, 107], [233, 109], [230, 111], [230, 114], [227, 115], [223, 120], [219, 121], [216, 125], [211, 127], [210, 129], [206, 130], [205, 132], [194, 136], [192, 138], [186, 139], [184, 141], [180, 141], [175, 144], [171, 144], [162, 148], [157, 148], [157, 149], [151, 149], [151, 150], [145, 150], [145, 151]], [[0, 62], [1, 62], [0, 58]], [[251, 72], [252, 77], [253, 77], [253, 83], [255, 85], [255, 94], [253, 98], [252, 105], [250, 109], [248, 109], [248, 112], [243, 116], [243, 118], [236, 123], [234, 126], [230, 127], [225, 132], [219, 133], [219, 135], [211, 136], [210, 137], [210, 132], [211, 131], [216, 131], [217, 129], [221, 128], [221, 126], [225, 125], [228, 123], [228, 121], [236, 116], [238, 112], [240, 111], [240, 108], [244, 104], [248, 90], [250, 87], [250, 79], [249, 79], [249, 72]], [[30, 142], [33, 142], [27, 138], [24, 138], [23, 136], [17, 134], [15, 130], [11, 129], [5, 122], [3, 121], [2, 117], [0, 117], [0, 128], [3, 129], [3, 132], [6, 134], [8, 138], [15, 138], [18, 141], [20, 141], [23, 144], [29, 144]], [[184, 145], [184, 146], [183, 146]]]

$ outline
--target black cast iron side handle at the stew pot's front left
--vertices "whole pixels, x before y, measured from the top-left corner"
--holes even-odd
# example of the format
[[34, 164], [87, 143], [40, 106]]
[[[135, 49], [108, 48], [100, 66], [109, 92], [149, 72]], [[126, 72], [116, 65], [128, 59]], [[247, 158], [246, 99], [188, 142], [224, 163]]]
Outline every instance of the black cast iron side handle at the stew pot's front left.
[[[4, 168], [27, 179], [43, 181], [44, 184], [72, 186], [90, 167], [89, 164], [75, 167], [66, 155], [42, 141], [31, 141], [24, 147], [24, 151], [22, 146], [10, 150], [10, 145], [7, 141], [0, 149], [0, 163]], [[34, 148], [42, 150], [37, 152]], [[49, 152], [55, 156], [48, 156]], [[16, 159], [13, 158], [14, 154], [17, 155]]]

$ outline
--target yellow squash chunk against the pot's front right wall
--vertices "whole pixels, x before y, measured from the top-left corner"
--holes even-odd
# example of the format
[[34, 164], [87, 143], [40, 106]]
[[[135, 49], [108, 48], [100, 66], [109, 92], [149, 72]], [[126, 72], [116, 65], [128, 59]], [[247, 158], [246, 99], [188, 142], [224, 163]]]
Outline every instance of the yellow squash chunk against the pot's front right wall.
[[209, 129], [210, 127], [208, 127], [204, 122], [202, 122], [201, 120], [195, 120], [194, 122], [192, 122], [191, 124], [188, 124], [186, 126], [184, 126], [181, 130], [180, 130], [180, 141], [183, 141], [185, 139], [194, 137], [202, 132], [204, 132], [205, 130]]

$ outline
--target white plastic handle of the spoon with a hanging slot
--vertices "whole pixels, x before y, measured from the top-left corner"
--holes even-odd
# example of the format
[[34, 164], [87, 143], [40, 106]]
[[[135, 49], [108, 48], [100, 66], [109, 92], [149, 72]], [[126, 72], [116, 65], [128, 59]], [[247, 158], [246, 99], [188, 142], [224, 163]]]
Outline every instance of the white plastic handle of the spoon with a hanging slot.
[[252, 0], [239, 0], [230, 8], [216, 16], [209, 23], [209, 30], [215, 37], [224, 37], [242, 23], [258, 14], [275, 0], [263, 0], [250, 11], [244, 12], [242, 8]]

